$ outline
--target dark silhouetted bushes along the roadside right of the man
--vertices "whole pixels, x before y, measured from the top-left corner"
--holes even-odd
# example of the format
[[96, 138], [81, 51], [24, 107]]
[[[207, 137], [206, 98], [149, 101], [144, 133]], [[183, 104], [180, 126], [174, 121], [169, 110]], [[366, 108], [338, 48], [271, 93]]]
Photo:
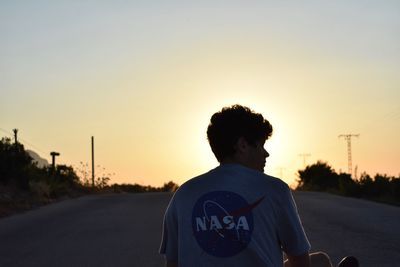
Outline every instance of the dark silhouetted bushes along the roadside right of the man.
[[347, 173], [336, 173], [328, 163], [318, 161], [298, 171], [297, 190], [323, 191], [400, 205], [400, 177], [362, 173], [354, 180]]

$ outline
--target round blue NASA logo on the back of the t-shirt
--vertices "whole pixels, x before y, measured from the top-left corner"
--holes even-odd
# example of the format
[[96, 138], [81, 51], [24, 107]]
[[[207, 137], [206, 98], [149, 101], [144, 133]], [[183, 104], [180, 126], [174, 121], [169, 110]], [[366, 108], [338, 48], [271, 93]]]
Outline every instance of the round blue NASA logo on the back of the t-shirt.
[[192, 230], [199, 246], [216, 257], [231, 257], [247, 247], [253, 233], [252, 209], [240, 195], [213, 191], [201, 196], [193, 207]]

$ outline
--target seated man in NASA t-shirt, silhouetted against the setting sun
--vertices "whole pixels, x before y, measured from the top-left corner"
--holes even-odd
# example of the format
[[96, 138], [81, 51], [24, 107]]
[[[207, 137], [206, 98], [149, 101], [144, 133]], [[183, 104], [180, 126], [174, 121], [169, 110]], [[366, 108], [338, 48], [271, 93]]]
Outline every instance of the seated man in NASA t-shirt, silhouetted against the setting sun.
[[[167, 266], [310, 266], [310, 244], [289, 187], [264, 174], [271, 124], [234, 105], [207, 129], [220, 166], [184, 183], [164, 217]], [[330, 266], [326, 254], [311, 261]], [[322, 262], [326, 262], [323, 265]]]

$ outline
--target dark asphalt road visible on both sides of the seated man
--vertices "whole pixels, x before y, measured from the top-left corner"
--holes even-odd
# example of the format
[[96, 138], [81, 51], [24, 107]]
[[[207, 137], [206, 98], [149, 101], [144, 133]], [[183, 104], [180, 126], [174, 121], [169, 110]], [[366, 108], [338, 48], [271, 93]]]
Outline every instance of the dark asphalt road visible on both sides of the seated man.
[[[88, 196], [0, 219], [0, 266], [163, 266], [157, 252], [171, 194]], [[400, 208], [295, 193], [312, 250], [334, 263], [400, 266]]]

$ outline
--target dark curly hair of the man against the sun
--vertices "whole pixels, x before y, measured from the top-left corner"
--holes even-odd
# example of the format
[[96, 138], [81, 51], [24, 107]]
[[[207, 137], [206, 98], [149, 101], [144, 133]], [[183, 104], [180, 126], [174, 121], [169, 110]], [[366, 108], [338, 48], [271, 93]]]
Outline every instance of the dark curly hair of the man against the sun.
[[207, 128], [207, 138], [219, 162], [235, 154], [235, 144], [243, 137], [250, 145], [266, 141], [272, 125], [264, 117], [241, 105], [224, 107], [215, 113]]

